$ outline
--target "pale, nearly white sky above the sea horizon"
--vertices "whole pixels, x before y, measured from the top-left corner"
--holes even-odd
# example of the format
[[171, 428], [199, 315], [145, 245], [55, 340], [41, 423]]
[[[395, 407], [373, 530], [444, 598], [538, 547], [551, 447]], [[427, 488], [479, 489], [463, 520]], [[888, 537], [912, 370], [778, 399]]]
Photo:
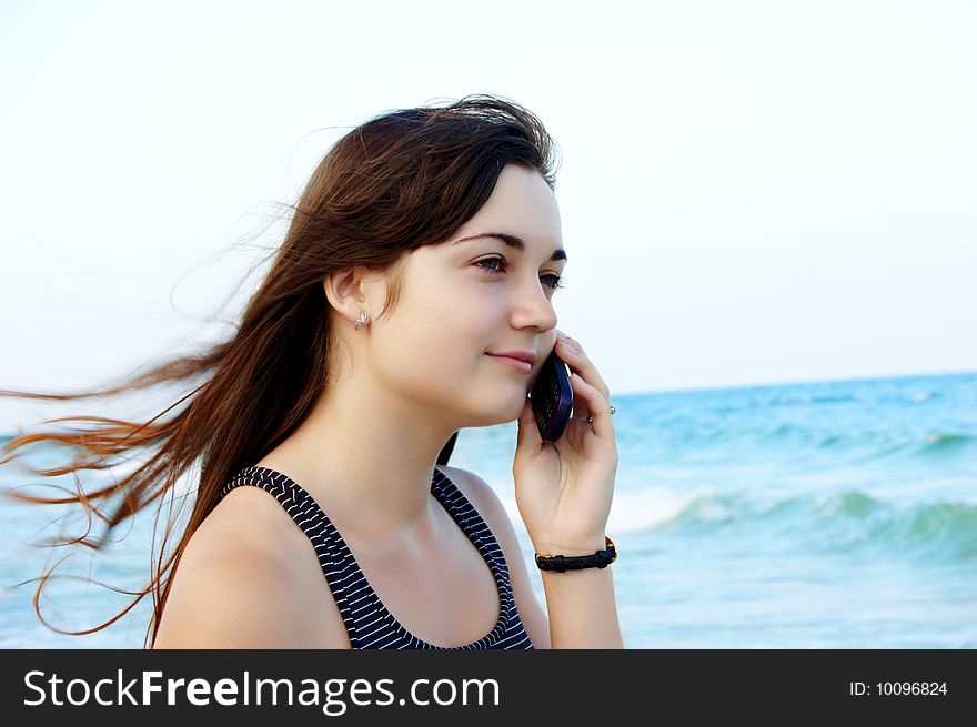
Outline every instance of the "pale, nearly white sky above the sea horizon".
[[557, 325], [612, 398], [977, 370], [975, 37], [965, 0], [0, 1], [0, 388], [225, 335], [339, 137], [471, 93], [556, 140]]

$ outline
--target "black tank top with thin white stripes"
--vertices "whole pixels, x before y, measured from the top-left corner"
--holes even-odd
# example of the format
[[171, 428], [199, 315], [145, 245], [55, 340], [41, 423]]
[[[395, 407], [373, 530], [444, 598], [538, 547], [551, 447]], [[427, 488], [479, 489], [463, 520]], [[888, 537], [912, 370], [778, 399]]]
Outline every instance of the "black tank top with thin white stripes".
[[465, 646], [435, 646], [404, 628], [380, 600], [339, 531], [312, 496], [294, 481], [268, 467], [245, 467], [221, 488], [220, 497], [223, 498], [240, 485], [261, 487], [273, 495], [312, 542], [354, 649], [533, 648], [515, 606], [502, 548], [464, 494], [439, 469], [434, 469], [431, 492], [488, 564], [495, 576], [501, 604], [495, 627], [483, 638]]

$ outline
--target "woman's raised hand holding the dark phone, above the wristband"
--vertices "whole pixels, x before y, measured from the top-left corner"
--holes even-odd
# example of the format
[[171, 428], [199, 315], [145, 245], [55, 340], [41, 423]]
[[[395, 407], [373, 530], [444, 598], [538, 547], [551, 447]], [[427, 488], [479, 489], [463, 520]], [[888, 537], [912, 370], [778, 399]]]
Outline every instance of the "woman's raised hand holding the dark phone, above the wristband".
[[556, 355], [574, 374], [573, 416], [556, 442], [544, 442], [526, 398], [512, 465], [515, 499], [537, 553], [587, 555], [604, 549], [617, 472], [611, 394], [583, 346], [560, 331]]

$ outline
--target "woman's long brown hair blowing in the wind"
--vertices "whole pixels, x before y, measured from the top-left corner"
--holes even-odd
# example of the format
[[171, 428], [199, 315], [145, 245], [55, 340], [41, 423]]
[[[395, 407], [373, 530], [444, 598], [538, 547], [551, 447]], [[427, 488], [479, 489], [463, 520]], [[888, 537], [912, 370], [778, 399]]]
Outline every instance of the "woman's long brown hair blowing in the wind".
[[[105, 628], [152, 592], [153, 614], [144, 646], [155, 640], [170, 576], [188, 541], [218, 503], [222, 485], [254, 464], [305, 420], [324, 391], [330, 346], [330, 304], [323, 279], [343, 267], [363, 265], [391, 274], [383, 316], [396, 305], [402, 275], [397, 263], [422, 245], [447, 240], [488, 199], [502, 169], [517, 163], [540, 172], [555, 188], [556, 149], [540, 120], [523, 107], [487, 94], [446, 105], [402, 109], [376, 115], [345, 133], [326, 152], [304, 191], [289, 205], [291, 221], [272, 265], [248, 301], [235, 332], [197, 352], [167, 360], [120, 385], [74, 394], [0, 391], [0, 396], [69, 401], [104, 397], [160, 384], [183, 384], [189, 392], [144, 422], [104, 416], [48, 420], [99, 425], [21, 434], [0, 450], [9, 455], [34, 443], [60, 443], [78, 456], [60, 467], [31, 468], [37, 475], [71, 474], [78, 487], [66, 497], [6, 493], [37, 504], [79, 504], [104, 524], [102, 537], [62, 538], [52, 545], [99, 551], [119, 524], [157, 503], [158, 517], [172, 502], [174, 483], [200, 466], [192, 511], [169, 556], [170, 517], [160, 553], [151, 555], [150, 582], [119, 614], [85, 630], [56, 628], [40, 613], [39, 596], [57, 567], [38, 578], [34, 610], [49, 628], [82, 635]], [[84, 492], [77, 472], [111, 471], [120, 461], [151, 456], [115, 484]], [[114, 458], [114, 462], [113, 462]], [[112, 507], [108, 512], [100, 504]]]

